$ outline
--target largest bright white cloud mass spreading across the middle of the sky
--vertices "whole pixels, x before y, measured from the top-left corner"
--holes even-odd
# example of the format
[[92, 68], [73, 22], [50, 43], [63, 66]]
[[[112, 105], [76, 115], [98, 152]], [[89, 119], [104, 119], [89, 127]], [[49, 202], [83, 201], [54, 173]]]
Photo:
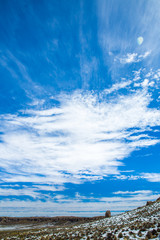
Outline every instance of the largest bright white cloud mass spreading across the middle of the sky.
[[59, 96], [59, 108], [1, 116], [0, 167], [6, 171], [1, 179], [43, 184], [98, 180], [118, 174], [132, 151], [159, 142], [143, 134], [160, 125], [160, 112], [148, 108], [146, 91], [105, 99], [75, 92]]

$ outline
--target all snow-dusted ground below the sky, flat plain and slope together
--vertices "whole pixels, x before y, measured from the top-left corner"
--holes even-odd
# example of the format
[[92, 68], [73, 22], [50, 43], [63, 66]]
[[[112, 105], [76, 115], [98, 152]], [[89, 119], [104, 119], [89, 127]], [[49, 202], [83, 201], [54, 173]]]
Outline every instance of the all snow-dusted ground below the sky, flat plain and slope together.
[[[44, 221], [44, 218], [32, 218], [32, 220], [39, 219], [39, 221], [41, 219], [41, 224], [33, 224], [30, 229], [20, 230], [5, 230], [5, 227], [14, 226], [13, 222], [17, 222], [17, 220], [16, 218], [9, 218], [9, 224], [9, 221], [4, 223], [4, 218], [1, 218], [0, 224], [2, 224], [3, 229], [0, 231], [0, 239], [160, 239], [160, 198], [154, 202], [147, 202], [143, 207], [110, 218], [98, 217], [98, 220], [76, 217], [58, 218], [60, 220], [56, 224], [53, 222], [53, 218], [49, 218], [47, 222]], [[69, 218], [79, 220], [74, 221], [72, 219], [72, 221], [69, 221]], [[61, 221], [62, 219], [63, 221]], [[27, 220], [27, 218], [21, 220], [23, 226], [32, 221], [31, 219]], [[25, 226], [27, 227], [27, 225]]]

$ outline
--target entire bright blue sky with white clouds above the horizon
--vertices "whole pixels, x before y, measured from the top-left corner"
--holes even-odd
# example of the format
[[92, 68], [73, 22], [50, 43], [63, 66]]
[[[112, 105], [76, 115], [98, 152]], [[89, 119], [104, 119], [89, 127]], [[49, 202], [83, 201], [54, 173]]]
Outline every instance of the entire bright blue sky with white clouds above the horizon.
[[0, 216], [160, 196], [160, 1], [0, 0]]

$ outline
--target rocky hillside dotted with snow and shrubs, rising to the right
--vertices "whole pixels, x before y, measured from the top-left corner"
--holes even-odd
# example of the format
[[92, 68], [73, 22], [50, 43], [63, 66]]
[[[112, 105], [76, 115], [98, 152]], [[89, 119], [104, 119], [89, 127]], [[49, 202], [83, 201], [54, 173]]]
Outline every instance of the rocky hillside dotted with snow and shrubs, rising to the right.
[[[11, 239], [11, 233], [3, 233]], [[5, 235], [3, 235], [5, 236]], [[1, 239], [5, 239], [1, 236]], [[9, 237], [10, 236], [10, 237]], [[16, 239], [160, 239], [160, 199], [143, 207], [110, 218], [72, 227], [44, 228], [26, 232], [12, 232]]]

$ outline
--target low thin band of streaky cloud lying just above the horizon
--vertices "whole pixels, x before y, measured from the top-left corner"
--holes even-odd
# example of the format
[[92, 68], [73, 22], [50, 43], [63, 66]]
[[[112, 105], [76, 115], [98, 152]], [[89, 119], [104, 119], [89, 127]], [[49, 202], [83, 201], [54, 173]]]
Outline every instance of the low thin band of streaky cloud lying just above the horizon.
[[[120, 196], [125, 194], [124, 197]], [[0, 214], [7, 216], [56, 216], [76, 215], [95, 216], [104, 215], [106, 210], [112, 214], [117, 211], [127, 211], [143, 206], [148, 200], [156, 200], [158, 192], [140, 190], [134, 192], [119, 192], [118, 196], [94, 198], [81, 196], [79, 193], [74, 198], [65, 195], [57, 195], [57, 200], [44, 201], [0, 201]], [[127, 195], [127, 196], [126, 196]], [[84, 202], [85, 199], [85, 202]], [[7, 209], [7, 211], [6, 211]]]

